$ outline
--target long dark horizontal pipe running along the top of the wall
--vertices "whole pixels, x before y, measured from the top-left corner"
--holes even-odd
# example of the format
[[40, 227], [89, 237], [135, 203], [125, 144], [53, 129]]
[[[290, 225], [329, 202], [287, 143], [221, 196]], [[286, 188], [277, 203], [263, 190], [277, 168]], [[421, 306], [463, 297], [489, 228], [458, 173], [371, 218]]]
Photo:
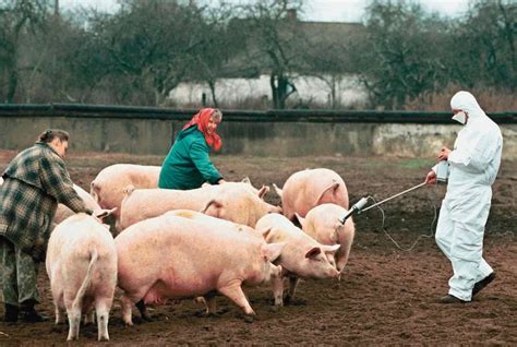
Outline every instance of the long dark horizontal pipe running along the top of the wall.
[[[188, 120], [197, 109], [172, 109], [158, 107], [46, 104], [0, 105], [0, 117], [71, 117], [71, 118], [120, 118]], [[452, 123], [450, 111], [380, 111], [380, 110], [235, 110], [223, 109], [225, 121], [239, 122], [374, 122], [374, 123]], [[497, 123], [517, 123], [517, 111], [491, 112]]]

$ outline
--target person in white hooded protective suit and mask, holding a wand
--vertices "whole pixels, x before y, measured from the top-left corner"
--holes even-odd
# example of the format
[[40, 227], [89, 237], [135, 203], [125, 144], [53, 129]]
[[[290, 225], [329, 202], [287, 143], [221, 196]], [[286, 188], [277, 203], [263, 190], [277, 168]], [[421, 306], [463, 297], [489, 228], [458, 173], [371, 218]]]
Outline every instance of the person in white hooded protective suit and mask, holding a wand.
[[[454, 149], [443, 147], [438, 160], [449, 165], [447, 192], [436, 226], [436, 243], [453, 264], [448, 295], [441, 303], [472, 300], [495, 278], [483, 259], [484, 226], [492, 200], [492, 183], [497, 176], [503, 149], [501, 130], [478, 105], [472, 94], [458, 92], [450, 99], [453, 119], [465, 127]], [[436, 166], [425, 178], [436, 183]]]

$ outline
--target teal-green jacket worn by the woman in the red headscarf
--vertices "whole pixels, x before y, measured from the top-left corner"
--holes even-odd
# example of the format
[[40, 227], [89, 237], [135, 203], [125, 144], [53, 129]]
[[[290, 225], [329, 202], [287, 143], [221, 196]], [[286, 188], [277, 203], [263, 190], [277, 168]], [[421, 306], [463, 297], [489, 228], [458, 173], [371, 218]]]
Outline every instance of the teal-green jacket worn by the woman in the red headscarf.
[[158, 188], [189, 190], [223, 178], [208, 156], [205, 136], [191, 127], [178, 132], [175, 144], [161, 165]]

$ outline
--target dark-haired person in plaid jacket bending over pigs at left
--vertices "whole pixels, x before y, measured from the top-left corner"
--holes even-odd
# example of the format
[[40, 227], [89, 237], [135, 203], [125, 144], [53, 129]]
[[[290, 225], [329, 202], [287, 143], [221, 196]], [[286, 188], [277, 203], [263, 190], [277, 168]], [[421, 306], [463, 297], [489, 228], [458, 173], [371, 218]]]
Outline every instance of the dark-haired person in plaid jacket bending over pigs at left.
[[34, 146], [11, 160], [0, 187], [0, 270], [5, 322], [44, 320], [34, 306], [39, 302], [37, 272], [45, 260], [50, 225], [58, 203], [75, 213], [92, 214], [73, 189], [64, 167], [69, 134], [47, 130]]

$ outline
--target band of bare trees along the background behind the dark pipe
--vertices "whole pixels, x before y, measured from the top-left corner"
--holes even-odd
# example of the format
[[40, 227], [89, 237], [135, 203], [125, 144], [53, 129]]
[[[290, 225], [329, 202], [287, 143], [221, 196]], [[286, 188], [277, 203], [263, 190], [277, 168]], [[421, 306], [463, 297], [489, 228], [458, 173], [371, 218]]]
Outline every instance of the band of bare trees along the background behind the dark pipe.
[[201, 82], [217, 106], [218, 79], [268, 74], [269, 107], [289, 108], [297, 76], [322, 79], [334, 98], [353, 74], [368, 108], [444, 110], [465, 88], [491, 111], [517, 109], [514, 0], [473, 1], [455, 19], [375, 0], [362, 24], [300, 21], [303, 0], [120, 4], [62, 13], [59, 0], [0, 0], [0, 103], [171, 106], [171, 89]]

